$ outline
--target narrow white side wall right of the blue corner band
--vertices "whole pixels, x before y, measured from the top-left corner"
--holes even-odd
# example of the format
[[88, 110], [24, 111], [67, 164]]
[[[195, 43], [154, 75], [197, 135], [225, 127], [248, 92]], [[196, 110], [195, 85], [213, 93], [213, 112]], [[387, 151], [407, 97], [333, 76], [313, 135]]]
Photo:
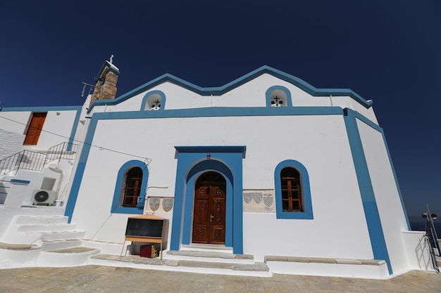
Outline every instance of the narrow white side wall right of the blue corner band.
[[407, 253], [402, 239], [402, 231], [407, 228], [406, 216], [402, 209], [392, 166], [387, 155], [383, 135], [359, 119], [361, 142], [368, 164], [369, 176], [375, 193], [383, 233], [392, 268], [395, 272], [408, 266]]

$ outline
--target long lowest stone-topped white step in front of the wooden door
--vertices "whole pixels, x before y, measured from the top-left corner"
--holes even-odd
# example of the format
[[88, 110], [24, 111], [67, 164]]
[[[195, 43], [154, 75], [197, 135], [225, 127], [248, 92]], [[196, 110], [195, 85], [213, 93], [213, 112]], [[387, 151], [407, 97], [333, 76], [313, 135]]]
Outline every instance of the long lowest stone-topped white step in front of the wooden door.
[[211, 273], [217, 275], [247, 275], [271, 277], [265, 263], [225, 263], [214, 261], [187, 261], [182, 259], [149, 259], [140, 256], [118, 256], [98, 254], [89, 259], [88, 264], [100, 266], [123, 266], [128, 268], [145, 268], [162, 271], [182, 271], [191, 273]]

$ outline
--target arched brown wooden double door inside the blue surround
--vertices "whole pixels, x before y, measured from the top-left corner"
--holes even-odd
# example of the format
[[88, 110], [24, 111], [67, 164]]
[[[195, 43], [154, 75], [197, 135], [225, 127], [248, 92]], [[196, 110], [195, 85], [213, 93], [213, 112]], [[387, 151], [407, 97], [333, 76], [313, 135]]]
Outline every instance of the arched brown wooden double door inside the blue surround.
[[193, 243], [225, 244], [227, 183], [221, 174], [208, 171], [194, 187]]

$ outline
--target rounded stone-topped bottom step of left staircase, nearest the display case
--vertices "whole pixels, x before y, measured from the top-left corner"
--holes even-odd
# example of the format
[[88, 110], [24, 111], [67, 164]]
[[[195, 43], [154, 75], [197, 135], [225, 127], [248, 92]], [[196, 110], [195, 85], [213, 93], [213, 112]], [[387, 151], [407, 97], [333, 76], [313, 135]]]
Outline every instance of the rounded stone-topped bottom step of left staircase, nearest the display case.
[[65, 249], [40, 252], [37, 266], [66, 267], [84, 266], [90, 256], [99, 254], [100, 250], [90, 247], [70, 247]]

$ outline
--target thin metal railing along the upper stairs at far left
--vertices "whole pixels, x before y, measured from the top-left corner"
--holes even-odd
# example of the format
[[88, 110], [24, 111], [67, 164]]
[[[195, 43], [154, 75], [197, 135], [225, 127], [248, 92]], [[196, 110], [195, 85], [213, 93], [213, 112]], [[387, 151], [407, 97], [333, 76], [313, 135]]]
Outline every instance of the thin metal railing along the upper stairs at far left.
[[77, 149], [76, 144], [60, 143], [49, 148], [46, 153], [22, 150], [0, 160], [0, 176], [18, 169], [42, 171], [45, 164], [56, 159], [73, 159]]

